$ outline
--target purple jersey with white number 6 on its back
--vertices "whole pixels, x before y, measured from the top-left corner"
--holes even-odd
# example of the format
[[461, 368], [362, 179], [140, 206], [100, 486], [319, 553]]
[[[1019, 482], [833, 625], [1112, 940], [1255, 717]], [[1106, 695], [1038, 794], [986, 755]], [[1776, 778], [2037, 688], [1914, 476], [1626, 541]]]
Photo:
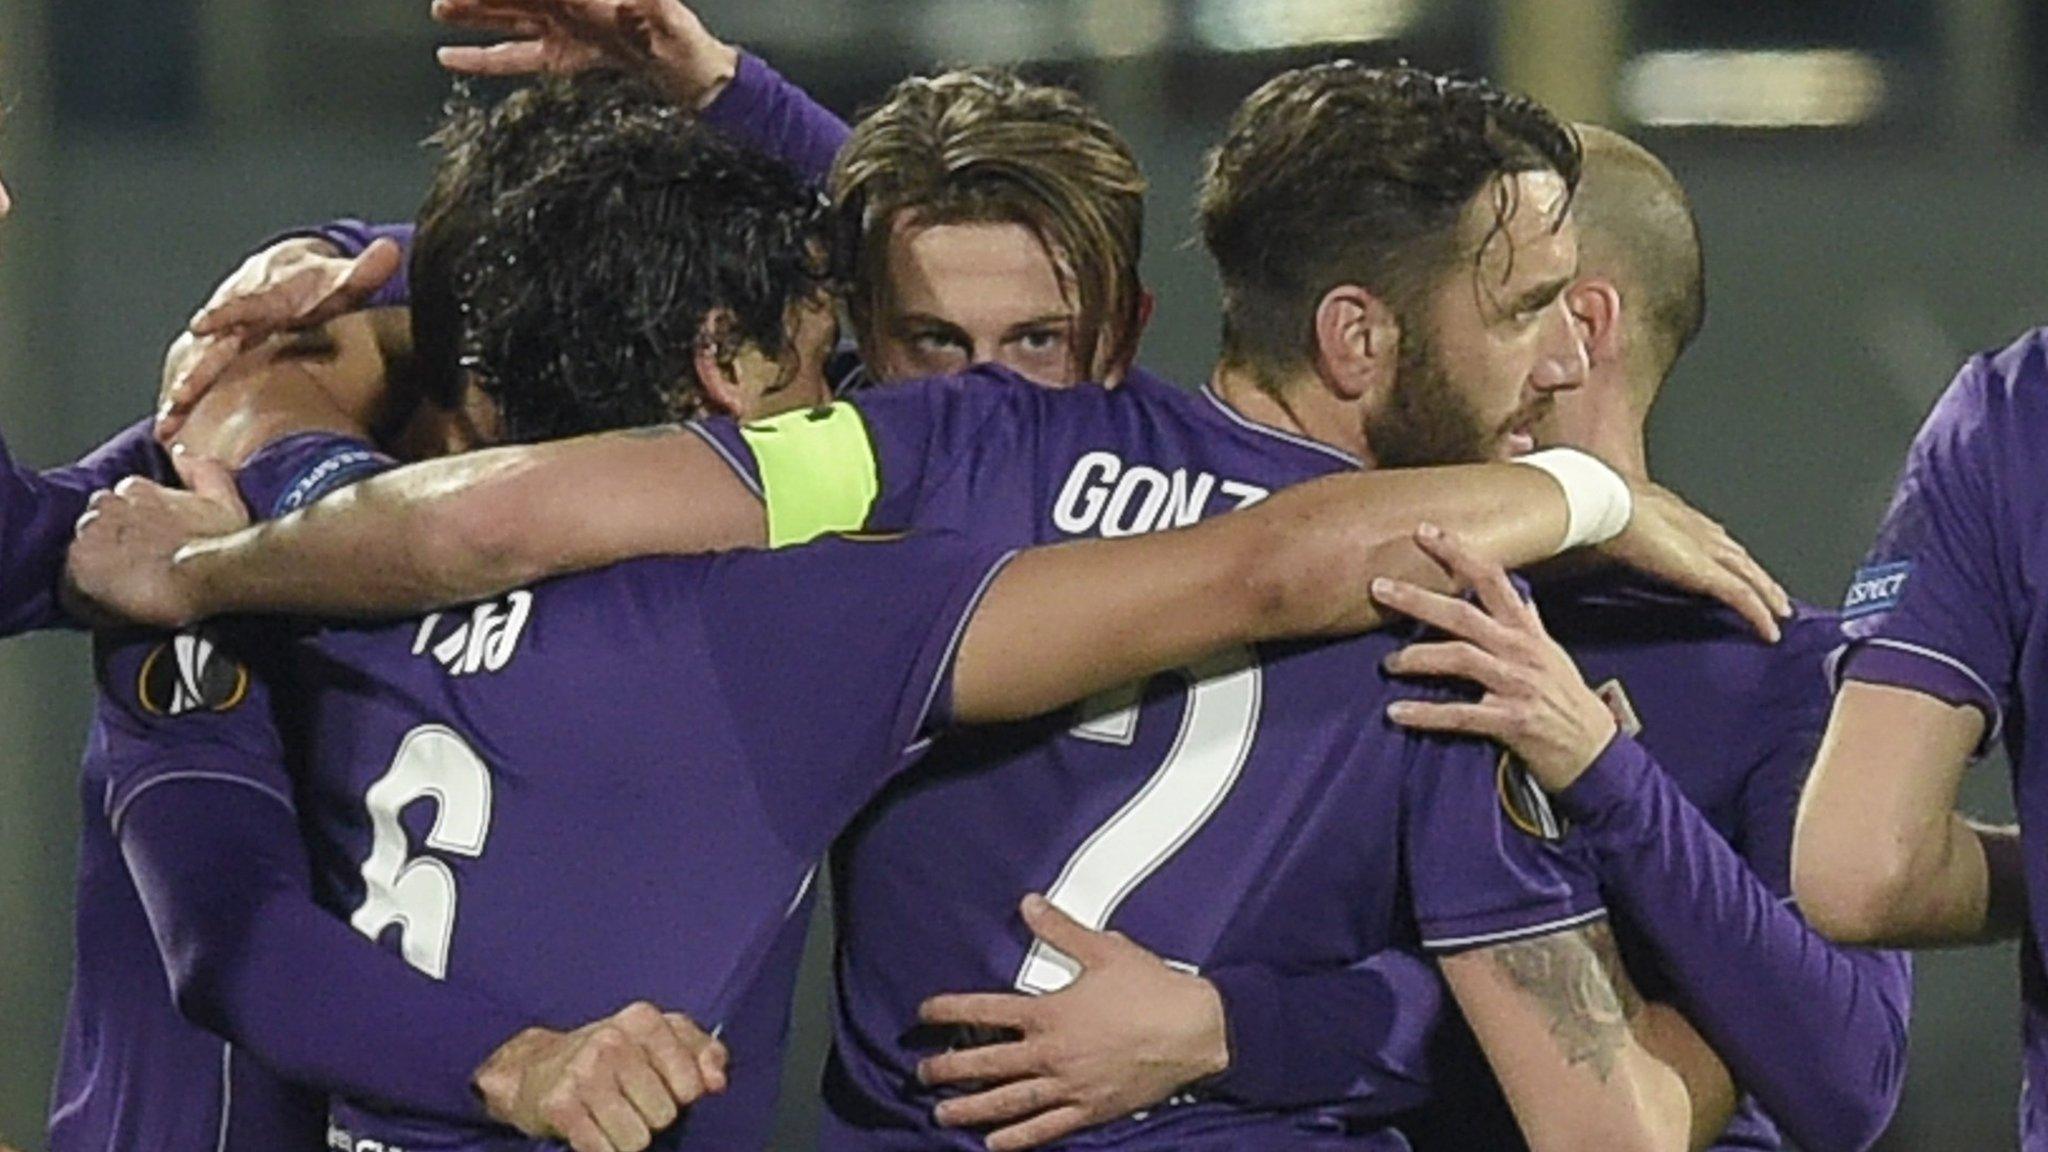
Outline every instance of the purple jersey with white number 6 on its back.
[[[252, 504], [285, 506], [362, 451], [303, 447]], [[997, 566], [948, 535], [635, 562], [240, 652], [303, 758], [313, 888], [358, 933], [551, 1027], [635, 998], [715, 1027], [764, 982], [786, 1004], [788, 914], [942, 715]], [[129, 775], [109, 804], [150, 781]], [[696, 1109], [670, 1146], [766, 1142], [780, 1054], [733, 1047], [752, 1086]], [[526, 1144], [369, 1101], [336, 1101], [330, 1142]]]

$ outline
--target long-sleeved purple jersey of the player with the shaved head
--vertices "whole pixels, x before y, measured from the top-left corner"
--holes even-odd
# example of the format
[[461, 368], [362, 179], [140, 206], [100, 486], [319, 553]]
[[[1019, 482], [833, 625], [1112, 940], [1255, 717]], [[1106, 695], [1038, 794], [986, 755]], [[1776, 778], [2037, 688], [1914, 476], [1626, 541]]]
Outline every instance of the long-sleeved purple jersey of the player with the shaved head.
[[[1599, 787], [1636, 791], [1661, 769], [1692, 816], [1587, 830], [1581, 842], [1610, 851], [1595, 871], [1640, 992], [1683, 1009], [1751, 1088], [1716, 1148], [1784, 1148], [1772, 1117], [1804, 1146], [1866, 1146], [1903, 1082], [1907, 957], [1829, 945], [1788, 906], [1792, 818], [1827, 726], [1839, 619], [1800, 609], [1772, 646], [1735, 613], [1626, 572], [1546, 582], [1536, 603], [1622, 730], [1655, 754], [1628, 777], [1602, 756], [1559, 808], [1577, 814], [1579, 793]], [[1653, 851], [1634, 851], [1649, 840]], [[1456, 1103], [1409, 1123], [1417, 1150], [1520, 1146], [1479, 1054], [1462, 1047], [1444, 1068]], [[1485, 1097], [1491, 1107], [1475, 1103]]]

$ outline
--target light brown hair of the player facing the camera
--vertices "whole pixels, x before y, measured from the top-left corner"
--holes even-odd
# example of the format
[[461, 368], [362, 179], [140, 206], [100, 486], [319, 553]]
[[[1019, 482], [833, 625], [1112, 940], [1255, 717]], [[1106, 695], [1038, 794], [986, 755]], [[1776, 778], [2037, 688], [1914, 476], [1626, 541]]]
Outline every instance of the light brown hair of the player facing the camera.
[[1028, 228], [1071, 293], [1081, 373], [1122, 369], [1137, 355], [1145, 176], [1079, 94], [999, 68], [903, 80], [854, 125], [831, 193], [860, 221], [848, 305], [870, 353], [889, 238], [913, 219]]

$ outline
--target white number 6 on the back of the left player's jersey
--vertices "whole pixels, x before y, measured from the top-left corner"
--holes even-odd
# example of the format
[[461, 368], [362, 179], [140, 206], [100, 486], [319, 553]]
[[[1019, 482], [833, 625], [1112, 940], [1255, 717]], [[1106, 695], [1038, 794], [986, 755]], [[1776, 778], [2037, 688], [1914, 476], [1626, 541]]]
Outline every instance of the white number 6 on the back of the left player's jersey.
[[455, 732], [424, 724], [399, 742], [391, 771], [362, 795], [371, 814], [371, 855], [362, 861], [362, 906], [348, 922], [369, 939], [399, 927], [406, 963], [442, 980], [455, 937], [455, 873], [434, 857], [408, 859], [399, 812], [432, 799], [426, 847], [479, 857], [492, 832], [492, 771]]

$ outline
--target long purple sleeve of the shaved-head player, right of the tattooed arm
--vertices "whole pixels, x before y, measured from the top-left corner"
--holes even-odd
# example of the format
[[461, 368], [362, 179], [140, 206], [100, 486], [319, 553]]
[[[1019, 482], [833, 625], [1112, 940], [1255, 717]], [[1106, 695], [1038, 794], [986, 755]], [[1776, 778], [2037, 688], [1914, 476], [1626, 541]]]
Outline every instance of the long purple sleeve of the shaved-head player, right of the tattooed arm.
[[[1772, 822], [1790, 822], [1812, 744], [1784, 746], [1745, 797]], [[1905, 1086], [1907, 957], [1821, 939], [1626, 736], [1556, 799], [1735, 1080], [1800, 1148], [1868, 1148]], [[1757, 842], [1776, 855], [1788, 834], [1763, 830]]]

